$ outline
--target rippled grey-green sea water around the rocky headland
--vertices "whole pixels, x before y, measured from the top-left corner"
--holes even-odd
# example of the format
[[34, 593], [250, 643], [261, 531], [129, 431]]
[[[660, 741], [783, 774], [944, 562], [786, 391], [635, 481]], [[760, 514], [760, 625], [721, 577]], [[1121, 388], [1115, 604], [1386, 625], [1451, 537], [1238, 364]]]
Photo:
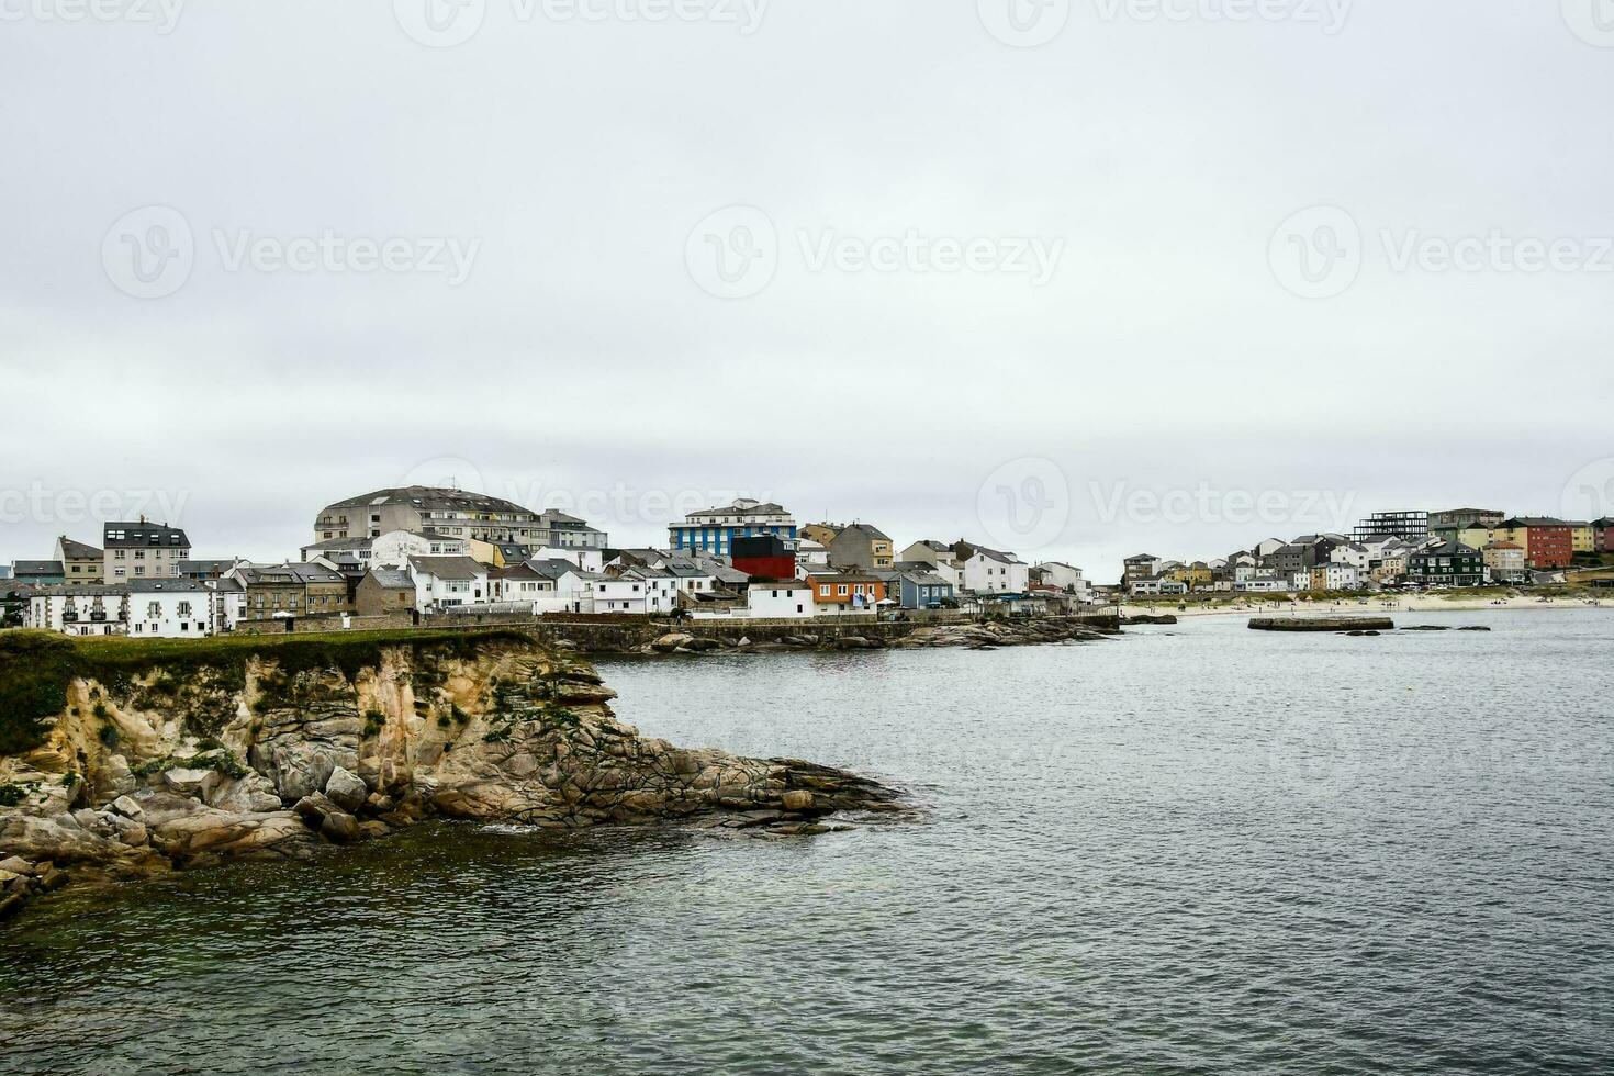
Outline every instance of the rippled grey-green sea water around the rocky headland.
[[433, 826], [0, 926], [3, 1073], [1614, 1070], [1614, 610], [607, 663], [817, 839]]

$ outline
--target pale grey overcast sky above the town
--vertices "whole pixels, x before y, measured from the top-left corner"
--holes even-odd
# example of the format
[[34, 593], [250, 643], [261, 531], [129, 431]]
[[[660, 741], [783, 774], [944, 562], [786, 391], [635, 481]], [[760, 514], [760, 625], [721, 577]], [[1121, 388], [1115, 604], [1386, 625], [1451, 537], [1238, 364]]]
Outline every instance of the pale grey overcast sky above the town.
[[0, 558], [1614, 511], [1614, 5], [460, 2], [0, 0]]

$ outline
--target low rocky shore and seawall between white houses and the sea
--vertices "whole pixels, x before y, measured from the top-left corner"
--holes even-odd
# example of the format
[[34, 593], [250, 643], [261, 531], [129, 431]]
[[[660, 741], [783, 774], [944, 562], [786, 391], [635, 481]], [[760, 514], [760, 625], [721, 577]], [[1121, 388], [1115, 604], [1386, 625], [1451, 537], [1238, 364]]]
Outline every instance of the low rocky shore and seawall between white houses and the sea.
[[[789, 650], [917, 650], [935, 647], [1030, 647], [1064, 642], [1096, 642], [1117, 634], [1114, 618], [1047, 616], [1015, 621], [970, 621], [957, 624], [868, 624], [862, 631], [822, 632], [810, 626], [726, 634], [692, 631], [667, 632], [639, 653], [781, 653]], [[755, 637], [752, 637], [755, 636]]]

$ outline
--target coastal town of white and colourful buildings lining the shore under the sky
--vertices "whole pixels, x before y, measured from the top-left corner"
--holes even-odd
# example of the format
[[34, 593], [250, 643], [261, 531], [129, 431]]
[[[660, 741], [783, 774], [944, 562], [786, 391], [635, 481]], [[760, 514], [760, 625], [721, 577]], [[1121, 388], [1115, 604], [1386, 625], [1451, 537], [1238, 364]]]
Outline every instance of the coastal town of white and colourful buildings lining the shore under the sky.
[[587, 521], [449, 487], [381, 489], [315, 513], [295, 558], [197, 557], [166, 521], [60, 536], [48, 558], [0, 565], [6, 626], [69, 636], [408, 628], [491, 618], [718, 623], [1033, 618], [1128, 600], [1249, 600], [1561, 584], [1614, 563], [1614, 519], [1495, 510], [1382, 511], [1349, 534], [1265, 539], [1210, 560], [1138, 553], [1119, 582], [1028, 563], [968, 539], [897, 547], [878, 526], [799, 523], [736, 498], [686, 515], [667, 544], [617, 547]]

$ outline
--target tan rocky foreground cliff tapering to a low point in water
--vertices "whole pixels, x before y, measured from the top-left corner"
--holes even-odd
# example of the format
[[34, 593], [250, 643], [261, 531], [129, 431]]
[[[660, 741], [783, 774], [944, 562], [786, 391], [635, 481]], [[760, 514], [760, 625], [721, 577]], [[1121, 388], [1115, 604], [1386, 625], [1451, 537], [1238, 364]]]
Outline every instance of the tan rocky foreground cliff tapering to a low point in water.
[[[642, 737], [591, 666], [513, 632], [6, 644], [29, 665], [0, 674], [0, 744], [37, 742], [0, 755], [0, 916], [66, 873], [302, 857], [434, 815], [805, 834], [896, 808], [839, 769]], [[42, 699], [60, 710], [19, 710]]]

